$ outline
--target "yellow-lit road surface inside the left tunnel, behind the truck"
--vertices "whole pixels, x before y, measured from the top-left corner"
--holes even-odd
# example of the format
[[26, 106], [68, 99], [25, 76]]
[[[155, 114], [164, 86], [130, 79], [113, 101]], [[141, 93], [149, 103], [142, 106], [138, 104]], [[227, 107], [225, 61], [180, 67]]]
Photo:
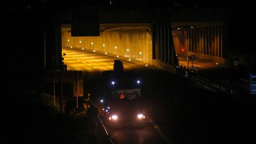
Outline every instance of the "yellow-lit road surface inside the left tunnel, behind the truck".
[[[62, 48], [62, 53], [66, 53], [64, 63], [71, 68], [71, 70], [82, 70], [100, 73], [104, 70], [113, 70], [114, 60], [118, 59], [110, 57], [107, 54], [98, 54], [77, 49]], [[135, 63], [122, 60], [124, 63], [124, 70], [132, 70], [142, 68]]]

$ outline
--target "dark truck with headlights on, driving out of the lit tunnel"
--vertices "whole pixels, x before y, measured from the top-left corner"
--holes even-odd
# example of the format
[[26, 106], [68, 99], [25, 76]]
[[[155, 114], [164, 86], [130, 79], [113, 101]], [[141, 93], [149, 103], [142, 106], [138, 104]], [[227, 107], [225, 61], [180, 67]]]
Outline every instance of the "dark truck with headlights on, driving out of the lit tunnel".
[[114, 60], [113, 70], [103, 71], [102, 78], [103, 113], [110, 126], [145, 126], [141, 77], [134, 70], [124, 71], [123, 62]]

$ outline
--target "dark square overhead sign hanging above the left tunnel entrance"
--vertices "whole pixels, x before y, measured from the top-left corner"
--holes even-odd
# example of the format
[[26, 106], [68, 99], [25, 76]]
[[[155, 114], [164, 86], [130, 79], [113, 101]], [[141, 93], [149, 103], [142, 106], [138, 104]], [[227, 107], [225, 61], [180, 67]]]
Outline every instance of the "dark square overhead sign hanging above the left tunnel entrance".
[[100, 36], [99, 9], [74, 7], [71, 9], [71, 36]]

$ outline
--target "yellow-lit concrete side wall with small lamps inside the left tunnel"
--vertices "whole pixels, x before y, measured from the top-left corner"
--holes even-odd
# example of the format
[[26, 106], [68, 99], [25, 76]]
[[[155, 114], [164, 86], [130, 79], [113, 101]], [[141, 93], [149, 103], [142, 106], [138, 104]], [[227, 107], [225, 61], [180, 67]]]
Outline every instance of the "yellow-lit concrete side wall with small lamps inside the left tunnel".
[[100, 36], [71, 37], [71, 28], [62, 28], [62, 47], [107, 52], [152, 65], [152, 35], [147, 29], [105, 30]]

